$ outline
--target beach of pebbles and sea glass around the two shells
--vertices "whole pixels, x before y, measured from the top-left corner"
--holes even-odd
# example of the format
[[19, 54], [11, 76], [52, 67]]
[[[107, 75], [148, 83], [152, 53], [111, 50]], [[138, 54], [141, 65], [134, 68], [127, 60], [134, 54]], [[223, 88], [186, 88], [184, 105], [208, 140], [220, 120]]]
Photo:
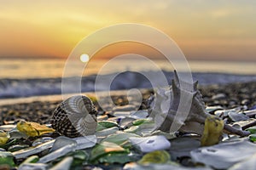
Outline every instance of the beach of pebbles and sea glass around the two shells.
[[[236, 135], [223, 136], [223, 141], [231, 141], [226, 144], [241, 150], [241, 158], [238, 156], [236, 161], [230, 161], [225, 154], [221, 155], [223, 162], [220, 164], [216, 163], [218, 161], [214, 155], [210, 161], [198, 158], [204, 156], [197, 153], [198, 150], [202, 150], [201, 137], [193, 133], [156, 132], [148, 136], [150, 123], [147, 124], [147, 101], [154, 94], [154, 90], [148, 88], [141, 90], [143, 102], [139, 105], [138, 111], [135, 111], [137, 103], [133, 103], [132, 99], [128, 102], [125, 90], [111, 93], [115, 106], [107, 112], [98, 105], [93, 93], [84, 94], [89, 96], [96, 105], [98, 127], [95, 135], [75, 139], [69, 139], [56, 132], [27, 137], [15, 128], [20, 120], [37, 122], [50, 127], [49, 120], [55, 108], [61, 103], [60, 96], [1, 105], [0, 130], [9, 132], [11, 137], [6, 144], [0, 145], [3, 150], [0, 161], [5, 162], [5, 165], [0, 165], [0, 168], [225, 169], [229, 167], [237, 169], [237, 166], [253, 166], [242, 160], [245, 156], [251, 161], [249, 158], [255, 153], [251, 149], [254, 150], [253, 132], [256, 131], [254, 130], [256, 129], [256, 82], [199, 85], [198, 88], [210, 114], [221, 117], [227, 124], [235, 123], [242, 130], [252, 129], [249, 137], [241, 139]], [[101, 97], [104, 98], [104, 94]], [[142, 141], [138, 142], [138, 140]], [[119, 141], [132, 145], [126, 146]], [[145, 147], [148, 143], [143, 141], [152, 141], [153, 144]], [[208, 147], [213, 147], [211, 150], [226, 150], [229, 156], [234, 149], [228, 149], [230, 146], [223, 145], [215, 144]], [[33, 148], [37, 148], [39, 152]], [[114, 151], [106, 151], [108, 149]], [[122, 159], [119, 159], [119, 156]], [[152, 156], [154, 159], [150, 158]]]

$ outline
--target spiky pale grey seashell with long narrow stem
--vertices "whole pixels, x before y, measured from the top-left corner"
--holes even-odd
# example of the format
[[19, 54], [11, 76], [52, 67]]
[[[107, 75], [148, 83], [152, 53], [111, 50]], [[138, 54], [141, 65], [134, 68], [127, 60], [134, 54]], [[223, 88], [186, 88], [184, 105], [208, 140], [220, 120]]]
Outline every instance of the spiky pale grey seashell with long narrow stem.
[[[179, 127], [176, 130], [181, 132], [200, 135], [203, 133], [204, 123], [207, 117], [211, 115], [206, 110], [206, 105], [200, 91], [197, 89], [197, 84], [198, 82], [189, 84], [180, 81], [177, 72], [174, 71], [172, 86], [168, 89], [159, 89], [154, 96], [148, 99], [148, 113], [154, 119], [154, 130], [170, 132], [173, 130], [172, 127]], [[180, 101], [181, 98], [184, 100]], [[179, 112], [177, 114], [179, 105], [183, 107], [191, 105], [189, 106], [189, 113]], [[224, 124], [224, 129], [241, 136], [248, 135], [247, 132], [237, 130], [227, 124]]]

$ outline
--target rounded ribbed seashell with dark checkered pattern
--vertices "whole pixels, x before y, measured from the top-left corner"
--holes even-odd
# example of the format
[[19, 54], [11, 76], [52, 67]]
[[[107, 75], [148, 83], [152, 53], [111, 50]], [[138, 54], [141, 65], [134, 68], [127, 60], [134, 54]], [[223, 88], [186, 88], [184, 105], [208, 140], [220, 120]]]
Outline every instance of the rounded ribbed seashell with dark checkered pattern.
[[86, 136], [96, 132], [96, 114], [95, 106], [87, 96], [76, 95], [61, 102], [50, 123], [67, 137]]

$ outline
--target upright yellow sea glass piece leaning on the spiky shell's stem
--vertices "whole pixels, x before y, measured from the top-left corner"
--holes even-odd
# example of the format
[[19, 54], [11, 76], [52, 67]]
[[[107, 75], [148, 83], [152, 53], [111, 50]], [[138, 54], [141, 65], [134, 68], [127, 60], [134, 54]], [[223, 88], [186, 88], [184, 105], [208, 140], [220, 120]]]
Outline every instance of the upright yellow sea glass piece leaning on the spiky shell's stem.
[[224, 121], [216, 116], [208, 116], [205, 121], [205, 128], [201, 138], [202, 146], [218, 144], [224, 129]]

